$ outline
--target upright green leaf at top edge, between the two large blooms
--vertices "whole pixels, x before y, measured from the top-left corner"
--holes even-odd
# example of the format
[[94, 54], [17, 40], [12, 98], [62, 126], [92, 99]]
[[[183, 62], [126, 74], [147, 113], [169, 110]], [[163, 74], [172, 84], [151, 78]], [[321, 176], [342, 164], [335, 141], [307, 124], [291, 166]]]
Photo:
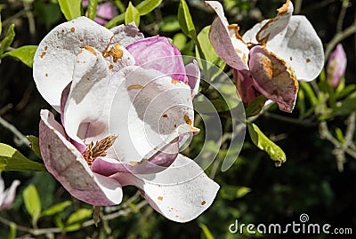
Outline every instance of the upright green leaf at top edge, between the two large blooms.
[[197, 32], [194, 27], [193, 20], [190, 16], [190, 11], [185, 0], [181, 0], [178, 8], [178, 21], [182, 28], [182, 32], [190, 38], [196, 38]]

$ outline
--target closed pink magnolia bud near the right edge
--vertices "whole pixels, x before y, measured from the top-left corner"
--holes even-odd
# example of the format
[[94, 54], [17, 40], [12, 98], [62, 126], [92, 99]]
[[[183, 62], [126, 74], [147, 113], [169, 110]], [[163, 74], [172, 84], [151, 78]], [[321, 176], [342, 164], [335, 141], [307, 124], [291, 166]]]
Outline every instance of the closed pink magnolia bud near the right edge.
[[328, 83], [332, 87], [336, 87], [339, 84], [340, 79], [344, 76], [344, 72], [347, 66], [346, 53], [342, 44], [337, 44], [334, 52], [330, 54], [328, 58]]

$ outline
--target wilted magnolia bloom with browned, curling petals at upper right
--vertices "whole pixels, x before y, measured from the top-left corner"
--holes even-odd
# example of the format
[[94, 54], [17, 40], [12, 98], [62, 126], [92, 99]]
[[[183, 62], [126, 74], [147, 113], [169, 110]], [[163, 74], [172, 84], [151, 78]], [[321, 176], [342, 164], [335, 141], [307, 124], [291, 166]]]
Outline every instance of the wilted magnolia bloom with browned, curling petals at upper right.
[[324, 53], [319, 36], [304, 16], [292, 16], [293, 4], [286, 4], [277, 16], [263, 20], [239, 35], [239, 26], [229, 24], [223, 6], [206, 1], [217, 13], [209, 39], [215, 52], [231, 68], [241, 99], [255, 100], [256, 93], [276, 101], [279, 109], [291, 112], [298, 81], [312, 81], [320, 74]]

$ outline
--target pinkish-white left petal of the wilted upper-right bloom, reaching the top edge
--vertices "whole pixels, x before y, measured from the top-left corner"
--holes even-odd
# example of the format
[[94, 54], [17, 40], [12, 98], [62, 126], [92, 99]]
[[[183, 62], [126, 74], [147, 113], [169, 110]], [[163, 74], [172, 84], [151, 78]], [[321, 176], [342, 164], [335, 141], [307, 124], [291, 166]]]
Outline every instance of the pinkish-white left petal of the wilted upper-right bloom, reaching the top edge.
[[[215, 52], [221, 57], [231, 68], [238, 70], [248, 69], [246, 61], [243, 60], [243, 54], [247, 52], [247, 46], [243, 44], [237, 36], [234, 44], [231, 41], [231, 32], [228, 28], [229, 23], [223, 13], [223, 5], [217, 1], [206, 1], [217, 14], [217, 17], [212, 23], [209, 31], [209, 39], [214, 47]], [[236, 25], [231, 25], [232, 28], [237, 28]], [[242, 55], [241, 55], [242, 54]]]

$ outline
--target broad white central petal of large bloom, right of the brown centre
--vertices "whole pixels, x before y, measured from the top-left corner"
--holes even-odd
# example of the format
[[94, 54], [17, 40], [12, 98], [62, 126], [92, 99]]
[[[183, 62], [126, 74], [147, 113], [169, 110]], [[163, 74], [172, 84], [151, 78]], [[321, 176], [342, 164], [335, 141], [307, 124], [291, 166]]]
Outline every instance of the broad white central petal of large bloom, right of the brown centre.
[[188, 84], [154, 69], [126, 67], [123, 72], [110, 115], [111, 135], [117, 135], [113, 147], [122, 162], [149, 159], [179, 135], [197, 131]]

